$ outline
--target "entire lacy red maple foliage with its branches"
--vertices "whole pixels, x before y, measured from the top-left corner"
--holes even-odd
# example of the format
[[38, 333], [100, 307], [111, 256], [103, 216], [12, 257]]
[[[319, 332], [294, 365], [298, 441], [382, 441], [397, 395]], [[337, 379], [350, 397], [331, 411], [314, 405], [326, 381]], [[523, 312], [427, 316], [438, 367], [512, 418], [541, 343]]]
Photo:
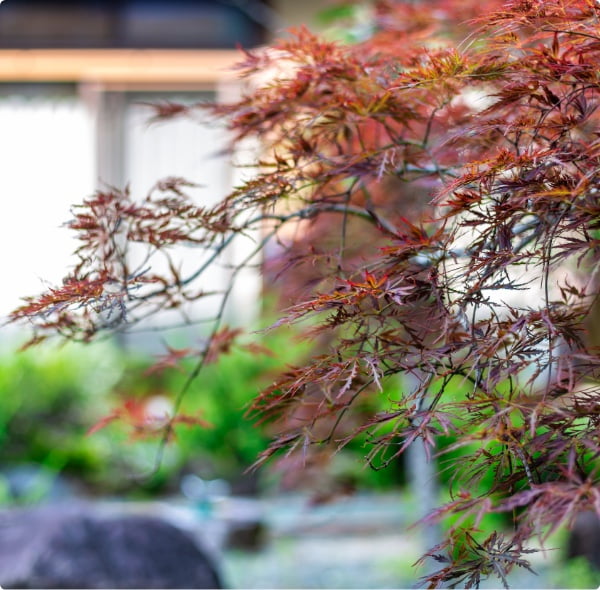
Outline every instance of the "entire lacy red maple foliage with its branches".
[[[473, 516], [430, 551], [444, 563], [430, 584], [490, 574], [506, 584], [528, 567], [532, 537], [580, 511], [600, 515], [600, 357], [586, 328], [599, 285], [600, 4], [493, 1], [484, 14], [480, 4], [377, 1], [361, 42], [300, 29], [246, 52], [240, 76], [261, 81], [212, 112], [234, 144], [260, 140], [255, 176], [209, 208], [181, 179], [141, 203], [96, 194], [71, 223], [72, 276], [12, 316], [35, 341], [127, 328], [205, 296], [194, 282], [260, 230], [245, 263], [272, 245], [265, 274], [285, 277], [288, 301], [274, 328], [308, 326], [318, 350], [255, 400], [252, 414], [281, 432], [259, 462], [364, 432], [375, 468], [417, 438], [432, 454], [440, 434], [457, 441], [441, 452], [475, 449], [430, 516]], [[148, 249], [136, 268], [131, 244]], [[174, 244], [208, 256], [187, 276], [172, 261], [165, 276], [146, 268]], [[191, 378], [236, 336], [220, 319]], [[350, 419], [398, 375], [414, 385], [387, 411]], [[514, 530], [482, 539], [479, 519], [494, 512]]]

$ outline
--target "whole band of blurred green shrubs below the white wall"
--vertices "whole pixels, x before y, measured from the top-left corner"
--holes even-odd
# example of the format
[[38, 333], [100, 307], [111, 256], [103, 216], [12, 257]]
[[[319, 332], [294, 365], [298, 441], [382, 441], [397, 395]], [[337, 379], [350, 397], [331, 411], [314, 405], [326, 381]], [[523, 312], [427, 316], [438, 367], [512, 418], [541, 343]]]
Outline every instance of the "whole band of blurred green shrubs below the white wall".
[[[172, 405], [192, 360], [179, 370], [154, 372], [156, 359], [123, 355], [106, 343], [0, 353], [0, 472], [23, 465], [42, 470], [43, 477], [20, 498], [24, 502], [48, 493], [51, 473], [72, 478], [91, 493], [134, 495], [174, 490], [182, 470], [207, 479], [239, 478], [274, 434], [273, 426], [257, 425], [245, 416], [249, 403], [278, 371], [308, 353], [306, 342], [295, 339], [292, 330], [269, 333], [261, 341], [260, 353], [234, 346], [205, 367], [181, 411], [200, 416], [209, 426], [177, 426], [155, 473], [156, 438], [136, 436], [121, 423], [87, 432], [123, 398]], [[370, 488], [397, 483], [392, 470], [365, 469], [364, 438], [351, 441], [338, 455], [331, 477]], [[0, 503], [11, 501], [8, 479], [0, 475]]]

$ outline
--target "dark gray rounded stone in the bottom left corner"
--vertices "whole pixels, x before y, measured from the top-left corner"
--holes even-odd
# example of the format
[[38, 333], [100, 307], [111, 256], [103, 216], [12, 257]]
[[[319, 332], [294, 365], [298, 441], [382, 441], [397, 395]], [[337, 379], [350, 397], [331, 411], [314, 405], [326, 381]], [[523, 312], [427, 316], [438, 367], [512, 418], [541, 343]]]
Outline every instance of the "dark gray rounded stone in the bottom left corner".
[[192, 538], [152, 516], [47, 506], [0, 514], [3, 588], [221, 588]]

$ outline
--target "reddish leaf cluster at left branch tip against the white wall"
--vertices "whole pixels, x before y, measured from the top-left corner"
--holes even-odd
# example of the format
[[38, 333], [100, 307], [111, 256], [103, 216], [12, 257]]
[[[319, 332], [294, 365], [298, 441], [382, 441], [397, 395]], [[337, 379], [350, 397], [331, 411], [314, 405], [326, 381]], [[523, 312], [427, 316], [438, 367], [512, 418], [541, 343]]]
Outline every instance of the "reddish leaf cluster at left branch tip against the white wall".
[[[98, 332], [120, 329], [161, 309], [211, 295], [190, 287], [206, 261], [189, 276], [181, 276], [173, 248], [218, 250], [231, 240], [223, 234], [237, 230], [220, 204], [210, 209], [193, 204], [183, 192], [192, 186], [181, 178], [167, 178], [141, 202], [128, 190], [111, 189], [76, 206], [67, 224], [81, 242], [75, 269], [61, 286], [27, 298], [11, 319], [33, 324], [32, 343], [56, 332], [88, 341]], [[159, 256], [166, 261], [167, 273], [152, 272]]]

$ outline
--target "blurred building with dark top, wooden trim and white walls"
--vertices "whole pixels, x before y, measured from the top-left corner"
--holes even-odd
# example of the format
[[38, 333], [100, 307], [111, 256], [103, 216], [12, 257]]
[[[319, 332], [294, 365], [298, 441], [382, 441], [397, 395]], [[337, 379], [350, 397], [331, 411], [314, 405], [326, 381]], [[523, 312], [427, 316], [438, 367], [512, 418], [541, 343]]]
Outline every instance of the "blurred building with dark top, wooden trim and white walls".
[[2, 2], [0, 316], [61, 280], [76, 245], [61, 226], [96, 188], [129, 184], [142, 198], [158, 179], [183, 176], [203, 185], [204, 204], [222, 197], [236, 174], [225, 131], [189, 120], [151, 125], [147, 103], [234, 98], [236, 47], [310, 23], [320, 8], [314, 0]]

